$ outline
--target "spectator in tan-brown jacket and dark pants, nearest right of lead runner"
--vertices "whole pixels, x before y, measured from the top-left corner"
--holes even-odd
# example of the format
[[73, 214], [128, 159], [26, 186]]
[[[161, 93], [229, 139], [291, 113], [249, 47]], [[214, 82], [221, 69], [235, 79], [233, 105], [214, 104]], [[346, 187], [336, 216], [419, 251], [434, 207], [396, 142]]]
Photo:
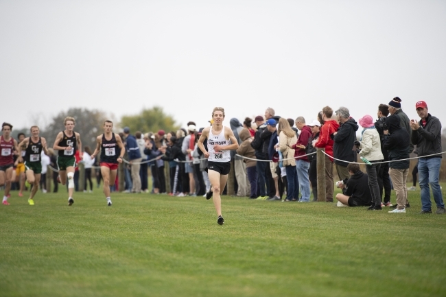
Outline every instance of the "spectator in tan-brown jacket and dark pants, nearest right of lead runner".
[[[250, 119], [251, 121], [251, 119]], [[253, 142], [253, 136], [251, 136], [250, 131], [247, 128], [244, 128], [239, 133], [240, 140], [242, 141], [242, 144], [237, 149], [237, 154], [240, 156], [247, 157], [244, 159], [244, 162], [246, 163], [246, 171], [248, 174], [248, 180], [250, 183], [250, 195], [249, 198], [256, 199], [257, 198], [257, 168], [256, 163], [257, 161], [252, 160], [255, 159], [255, 150], [251, 146], [251, 143]]]

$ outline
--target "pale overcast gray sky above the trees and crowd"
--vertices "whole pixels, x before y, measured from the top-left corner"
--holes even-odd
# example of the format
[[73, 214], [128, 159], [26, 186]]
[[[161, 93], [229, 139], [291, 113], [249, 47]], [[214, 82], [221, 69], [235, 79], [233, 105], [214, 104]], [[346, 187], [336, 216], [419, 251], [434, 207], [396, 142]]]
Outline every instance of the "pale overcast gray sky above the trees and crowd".
[[[446, 127], [446, 1], [0, 0], [0, 121], [43, 125], [70, 107], [185, 126], [229, 119], [356, 119], [399, 96]], [[62, 123], [61, 123], [62, 126]]]

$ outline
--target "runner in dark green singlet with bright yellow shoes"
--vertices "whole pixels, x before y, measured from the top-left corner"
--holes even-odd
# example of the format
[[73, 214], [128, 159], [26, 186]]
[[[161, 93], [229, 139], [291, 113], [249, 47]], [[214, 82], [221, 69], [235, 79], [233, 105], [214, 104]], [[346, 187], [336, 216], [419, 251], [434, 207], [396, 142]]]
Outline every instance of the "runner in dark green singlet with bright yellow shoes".
[[45, 138], [38, 136], [40, 130], [37, 126], [31, 127], [31, 137], [27, 137], [19, 143], [19, 162], [23, 158], [22, 148], [25, 147], [25, 174], [27, 181], [32, 185], [32, 191], [28, 203], [34, 205], [34, 195], [38, 190], [40, 184], [40, 174], [42, 173], [42, 163], [40, 163], [40, 154], [47, 151], [47, 141]]

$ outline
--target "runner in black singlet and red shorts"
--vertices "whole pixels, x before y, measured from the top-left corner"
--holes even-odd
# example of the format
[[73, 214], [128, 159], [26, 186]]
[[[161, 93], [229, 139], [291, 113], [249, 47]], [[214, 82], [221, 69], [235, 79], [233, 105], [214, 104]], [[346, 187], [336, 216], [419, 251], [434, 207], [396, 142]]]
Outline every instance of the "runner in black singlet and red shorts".
[[101, 163], [99, 165], [101, 166], [101, 174], [104, 179], [104, 194], [108, 206], [111, 206], [110, 183], [111, 185], [115, 183], [118, 163], [122, 163], [122, 157], [126, 153], [121, 136], [113, 133], [112, 129], [113, 122], [108, 120], [104, 121], [104, 134], [96, 137], [96, 149], [91, 154], [91, 158], [93, 159], [99, 151], [101, 152]]

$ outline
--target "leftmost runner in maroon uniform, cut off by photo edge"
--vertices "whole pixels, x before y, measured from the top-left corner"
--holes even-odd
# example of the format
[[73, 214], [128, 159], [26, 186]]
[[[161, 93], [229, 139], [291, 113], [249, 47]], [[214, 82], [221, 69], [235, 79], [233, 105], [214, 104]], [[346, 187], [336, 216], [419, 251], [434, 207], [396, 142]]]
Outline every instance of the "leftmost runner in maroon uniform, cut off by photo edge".
[[12, 166], [14, 165], [13, 150], [17, 150], [17, 141], [11, 137], [12, 125], [1, 125], [3, 135], [0, 136], [0, 187], [5, 186], [3, 205], [9, 205], [8, 195], [11, 189]]

